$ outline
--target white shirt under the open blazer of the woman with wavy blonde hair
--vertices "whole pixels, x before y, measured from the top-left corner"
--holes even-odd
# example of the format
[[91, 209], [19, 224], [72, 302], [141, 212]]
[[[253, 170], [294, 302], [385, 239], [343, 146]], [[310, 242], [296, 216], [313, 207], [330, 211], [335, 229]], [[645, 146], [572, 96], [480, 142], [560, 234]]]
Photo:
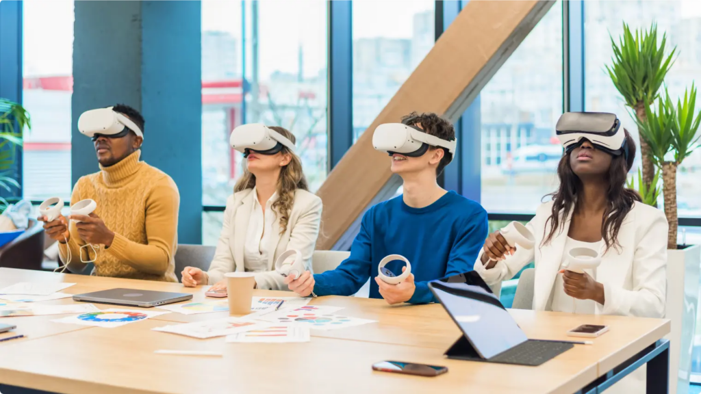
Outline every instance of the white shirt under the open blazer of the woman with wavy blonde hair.
[[271, 206], [278, 199], [278, 193], [268, 198], [265, 204], [265, 215], [258, 201], [258, 193], [253, 188], [253, 207], [251, 210], [246, 242], [243, 246], [243, 266], [247, 272], [264, 272], [268, 270], [268, 252], [273, 224], [277, 219]]

